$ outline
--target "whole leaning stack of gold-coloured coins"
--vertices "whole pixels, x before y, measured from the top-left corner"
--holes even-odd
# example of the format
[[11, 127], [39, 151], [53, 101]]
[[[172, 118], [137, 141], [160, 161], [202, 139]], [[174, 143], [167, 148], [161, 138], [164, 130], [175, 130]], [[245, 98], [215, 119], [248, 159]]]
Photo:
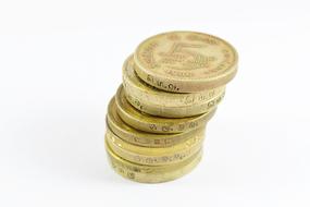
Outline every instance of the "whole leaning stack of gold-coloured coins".
[[106, 148], [113, 169], [145, 183], [177, 179], [202, 156], [207, 122], [237, 71], [223, 39], [171, 32], [142, 41], [123, 66], [108, 108]]

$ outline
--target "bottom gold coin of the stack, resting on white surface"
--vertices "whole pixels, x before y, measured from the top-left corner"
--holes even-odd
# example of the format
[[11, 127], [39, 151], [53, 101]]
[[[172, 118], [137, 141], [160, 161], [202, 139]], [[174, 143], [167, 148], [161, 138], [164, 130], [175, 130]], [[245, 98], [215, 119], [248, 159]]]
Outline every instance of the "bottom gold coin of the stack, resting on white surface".
[[106, 143], [109, 161], [120, 175], [141, 183], [161, 183], [178, 179], [189, 173], [201, 160], [202, 149], [183, 162], [168, 166], [144, 166], [124, 160]]

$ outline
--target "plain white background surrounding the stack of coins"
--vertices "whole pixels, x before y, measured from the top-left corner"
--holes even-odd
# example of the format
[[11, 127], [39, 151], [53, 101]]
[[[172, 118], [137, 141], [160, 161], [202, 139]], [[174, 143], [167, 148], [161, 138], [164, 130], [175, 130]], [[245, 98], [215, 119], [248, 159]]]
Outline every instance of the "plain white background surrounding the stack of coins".
[[[307, 0], [0, 1], [0, 206], [310, 206]], [[123, 61], [175, 29], [218, 35], [239, 71], [204, 157], [164, 184], [107, 162], [104, 115]]]

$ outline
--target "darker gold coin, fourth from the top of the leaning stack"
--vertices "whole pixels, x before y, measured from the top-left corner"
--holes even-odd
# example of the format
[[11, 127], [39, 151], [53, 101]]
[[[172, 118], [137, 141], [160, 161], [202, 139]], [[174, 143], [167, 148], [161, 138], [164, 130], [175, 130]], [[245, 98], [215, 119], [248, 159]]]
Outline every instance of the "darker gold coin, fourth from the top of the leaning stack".
[[215, 109], [209, 113], [202, 113], [190, 118], [161, 118], [141, 113], [126, 99], [123, 86], [117, 89], [115, 101], [117, 113], [122, 120], [137, 130], [158, 134], [173, 134], [201, 127], [215, 113]]

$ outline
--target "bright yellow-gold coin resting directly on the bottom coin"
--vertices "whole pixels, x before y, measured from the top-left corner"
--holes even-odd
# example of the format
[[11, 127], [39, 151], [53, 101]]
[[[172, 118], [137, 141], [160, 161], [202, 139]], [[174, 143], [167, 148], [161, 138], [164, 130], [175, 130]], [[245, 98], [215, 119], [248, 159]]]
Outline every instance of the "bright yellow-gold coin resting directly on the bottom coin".
[[163, 166], [184, 161], [197, 154], [201, 148], [204, 138], [204, 130], [194, 133], [190, 138], [171, 147], [148, 148], [136, 146], [124, 142], [108, 127], [106, 142], [111, 149], [120, 157], [146, 166]]

